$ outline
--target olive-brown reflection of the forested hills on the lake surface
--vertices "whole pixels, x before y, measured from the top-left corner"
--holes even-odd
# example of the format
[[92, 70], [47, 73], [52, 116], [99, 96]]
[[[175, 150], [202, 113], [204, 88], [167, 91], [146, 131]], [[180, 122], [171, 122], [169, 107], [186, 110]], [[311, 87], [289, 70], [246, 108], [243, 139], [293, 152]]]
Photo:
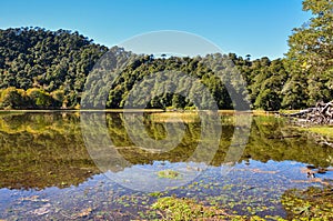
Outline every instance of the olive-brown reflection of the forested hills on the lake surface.
[[[99, 158], [98, 163], [101, 163], [99, 168], [102, 168], [103, 172], [113, 173], [124, 170], [127, 173], [131, 170], [138, 172], [138, 165], [153, 165], [157, 161], [194, 162], [219, 167], [225, 162], [234, 131], [242, 131], [242, 128], [234, 127], [233, 115], [221, 117], [222, 134], [218, 150], [214, 149], [218, 139], [212, 132], [212, 135], [208, 135], [203, 142], [204, 151], [200, 151], [199, 154], [194, 154], [196, 158], [193, 158], [199, 142], [202, 142], [200, 117], [195, 113], [182, 117], [184, 135], [173, 149], [168, 151], [160, 151], [159, 147], [142, 147], [144, 142], [140, 147], [135, 145], [127, 132], [123, 113], [107, 113], [107, 131], [95, 130], [100, 129], [99, 125], [93, 124], [98, 122], [94, 119], [97, 115], [89, 115], [89, 118], [91, 124], [87, 127], [93, 132], [104, 134], [105, 138], [93, 140], [95, 151], [91, 152], [93, 150], [90, 149], [90, 154], [100, 153], [98, 157], [94, 155]], [[135, 120], [135, 113], [132, 113], [132, 118]], [[159, 113], [144, 114], [147, 134], [151, 139], [162, 140], [168, 135], [165, 118]], [[171, 127], [173, 124], [174, 130], [179, 129], [174, 127], [178, 123], [178, 121], [169, 122]], [[2, 113], [0, 115], [0, 187], [65, 188], [78, 185], [91, 175], [100, 173], [87, 151], [81, 127], [78, 112]], [[256, 117], [252, 122], [249, 143], [238, 162], [250, 159], [261, 162], [289, 160], [316, 167], [330, 165], [326, 158], [333, 155], [332, 149], [317, 145], [306, 135], [295, 134], [300, 133], [287, 127], [281, 119]], [[135, 135], [138, 140], [144, 140], [140, 138], [140, 131], [137, 131]], [[105, 145], [108, 139], [112, 141], [112, 149]], [[205, 154], [211, 152], [215, 154], [210, 159]], [[209, 162], [205, 159], [210, 159]]]

